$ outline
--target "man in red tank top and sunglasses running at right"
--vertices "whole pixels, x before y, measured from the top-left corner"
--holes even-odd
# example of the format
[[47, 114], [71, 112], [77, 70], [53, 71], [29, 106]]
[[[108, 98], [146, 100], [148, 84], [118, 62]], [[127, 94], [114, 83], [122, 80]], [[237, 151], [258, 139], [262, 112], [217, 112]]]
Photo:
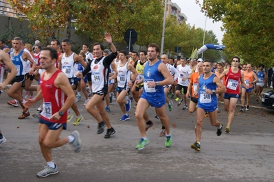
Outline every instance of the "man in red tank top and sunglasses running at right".
[[231, 68], [224, 70], [219, 77], [220, 79], [225, 77], [225, 88], [227, 88], [224, 96], [225, 111], [229, 112], [227, 127], [225, 127], [227, 133], [229, 133], [230, 125], [233, 122], [235, 107], [239, 98], [240, 83], [244, 88], [248, 88], [244, 83], [244, 73], [238, 68], [239, 63], [240, 57], [234, 56], [231, 61]]

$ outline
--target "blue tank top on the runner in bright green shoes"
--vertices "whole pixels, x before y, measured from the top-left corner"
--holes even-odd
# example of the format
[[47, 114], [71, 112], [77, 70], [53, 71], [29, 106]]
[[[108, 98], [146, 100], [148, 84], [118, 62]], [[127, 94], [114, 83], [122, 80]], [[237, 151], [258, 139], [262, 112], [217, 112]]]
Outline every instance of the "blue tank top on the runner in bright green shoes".
[[163, 86], [148, 87], [150, 81], [163, 81], [165, 77], [159, 72], [158, 66], [161, 64], [161, 60], [158, 60], [154, 65], [150, 66], [149, 62], [144, 68], [144, 91], [143, 93], [148, 96], [164, 96]]

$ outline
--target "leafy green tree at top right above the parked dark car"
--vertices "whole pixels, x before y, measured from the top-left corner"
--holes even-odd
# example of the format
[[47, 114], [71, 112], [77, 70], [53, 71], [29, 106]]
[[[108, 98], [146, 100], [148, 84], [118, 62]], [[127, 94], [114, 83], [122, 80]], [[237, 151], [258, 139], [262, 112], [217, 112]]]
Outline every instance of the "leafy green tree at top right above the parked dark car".
[[214, 21], [223, 22], [226, 57], [239, 55], [255, 66], [274, 66], [273, 1], [203, 0], [201, 7]]

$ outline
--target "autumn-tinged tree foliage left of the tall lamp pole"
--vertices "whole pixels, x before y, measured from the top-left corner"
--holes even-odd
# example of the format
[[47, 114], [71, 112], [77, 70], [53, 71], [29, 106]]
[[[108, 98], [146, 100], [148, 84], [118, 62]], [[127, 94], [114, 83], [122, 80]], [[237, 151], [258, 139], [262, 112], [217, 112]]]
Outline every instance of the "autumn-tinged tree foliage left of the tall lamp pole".
[[[12, 0], [10, 4], [17, 12], [25, 14], [32, 30], [45, 39], [54, 38], [56, 32], [65, 27], [67, 38], [70, 38], [73, 25], [78, 29], [78, 34], [87, 34], [94, 41], [102, 41], [104, 32], [109, 31], [114, 34], [115, 42], [122, 42], [128, 28], [137, 30], [141, 38], [138, 43], [161, 40], [158, 36], [162, 25], [162, 15], [159, 14], [163, 12], [161, 0]], [[159, 27], [151, 26], [152, 22]]]

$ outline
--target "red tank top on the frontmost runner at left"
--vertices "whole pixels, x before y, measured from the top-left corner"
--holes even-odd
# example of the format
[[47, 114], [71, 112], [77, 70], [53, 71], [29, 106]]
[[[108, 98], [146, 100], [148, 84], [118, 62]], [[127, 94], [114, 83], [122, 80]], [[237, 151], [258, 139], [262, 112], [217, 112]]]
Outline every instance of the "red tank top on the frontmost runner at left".
[[41, 77], [40, 86], [43, 94], [43, 112], [41, 112], [41, 118], [47, 120], [48, 122], [66, 123], [67, 122], [67, 112], [65, 112], [60, 120], [49, 120], [49, 118], [60, 111], [62, 105], [64, 105], [67, 96], [60, 88], [54, 86], [54, 81], [61, 70], [56, 70], [54, 75], [48, 80], [44, 80], [44, 75]]

